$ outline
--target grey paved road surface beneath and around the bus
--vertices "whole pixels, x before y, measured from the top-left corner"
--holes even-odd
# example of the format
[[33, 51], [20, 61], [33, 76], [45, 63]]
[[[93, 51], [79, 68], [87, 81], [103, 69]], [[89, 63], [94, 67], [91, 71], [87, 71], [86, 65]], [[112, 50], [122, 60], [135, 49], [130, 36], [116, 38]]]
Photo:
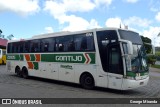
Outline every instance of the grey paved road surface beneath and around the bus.
[[0, 66], [0, 98], [160, 98], [160, 76], [151, 69], [147, 86], [128, 91], [106, 88], [86, 90], [79, 85], [45, 80], [23, 79]]

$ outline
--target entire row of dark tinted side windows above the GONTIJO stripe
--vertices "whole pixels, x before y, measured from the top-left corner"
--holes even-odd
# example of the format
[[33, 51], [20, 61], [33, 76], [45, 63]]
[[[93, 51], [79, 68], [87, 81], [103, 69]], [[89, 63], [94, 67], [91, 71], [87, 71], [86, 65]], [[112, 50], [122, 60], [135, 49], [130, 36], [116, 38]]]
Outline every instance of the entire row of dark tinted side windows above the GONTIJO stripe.
[[28, 40], [8, 44], [8, 53], [94, 51], [93, 33]]

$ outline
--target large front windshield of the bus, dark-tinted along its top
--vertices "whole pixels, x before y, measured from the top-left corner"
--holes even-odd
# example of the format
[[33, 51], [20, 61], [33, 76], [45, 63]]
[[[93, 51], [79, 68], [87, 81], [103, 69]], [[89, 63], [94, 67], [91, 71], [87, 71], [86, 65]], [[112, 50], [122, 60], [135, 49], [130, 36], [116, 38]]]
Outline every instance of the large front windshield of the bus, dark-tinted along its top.
[[[133, 43], [133, 55], [131, 55], [129, 58], [131, 60], [131, 68], [130, 69], [128, 68], [127, 70], [132, 72], [148, 71], [145, 48], [143, 46], [143, 42], [139, 34], [124, 30], [119, 30], [119, 34], [121, 39], [129, 40]], [[124, 48], [124, 53], [127, 53], [126, 52], [127, 50], [125, 49], [124, 45], [123, 48]]]

